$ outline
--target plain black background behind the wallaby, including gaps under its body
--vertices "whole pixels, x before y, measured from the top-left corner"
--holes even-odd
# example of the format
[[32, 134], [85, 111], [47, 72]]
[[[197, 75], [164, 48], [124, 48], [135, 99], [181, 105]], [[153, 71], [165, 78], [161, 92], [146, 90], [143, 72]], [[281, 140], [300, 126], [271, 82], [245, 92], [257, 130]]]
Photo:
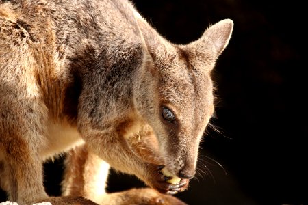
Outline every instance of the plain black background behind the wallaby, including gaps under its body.
[[[211, 174], [199, 171], [188, 191], [176, 196], [188, 204], [306, 204], [307, 18], [303, 3], [134, 2], [142, 16], [174, 43], [196, 40], [210, 24], [224, 18], [235, 24], [214, 72], [220, 101], [213, 123], [220, 133], [209, 128], [201, 145], [200, 162]], [[205, 170], [201, 163], [198, 168]], [[59, 194], [61, 167], [61, 159], [45, 165], [51, 195]], [[144, 186], [133, 176], [114, 172], [109, 184], [110, 192]]]

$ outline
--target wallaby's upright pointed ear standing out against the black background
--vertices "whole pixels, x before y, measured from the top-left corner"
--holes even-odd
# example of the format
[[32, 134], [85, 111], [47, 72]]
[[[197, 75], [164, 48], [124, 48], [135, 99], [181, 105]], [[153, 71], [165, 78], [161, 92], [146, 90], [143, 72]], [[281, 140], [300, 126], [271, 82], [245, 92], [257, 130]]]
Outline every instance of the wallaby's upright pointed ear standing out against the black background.
[[227, 47], [231, 38], [232, 29], [233, 20], [220, 20], [218, 23], [207, 28], [207, 30], [203, 33], [203, 36], [192, 44], [197, 52], [207, 53], [207, 50], [210, 49], [212, 52], [211, 54], [214, 55], [212, 57], [216, 59]]

